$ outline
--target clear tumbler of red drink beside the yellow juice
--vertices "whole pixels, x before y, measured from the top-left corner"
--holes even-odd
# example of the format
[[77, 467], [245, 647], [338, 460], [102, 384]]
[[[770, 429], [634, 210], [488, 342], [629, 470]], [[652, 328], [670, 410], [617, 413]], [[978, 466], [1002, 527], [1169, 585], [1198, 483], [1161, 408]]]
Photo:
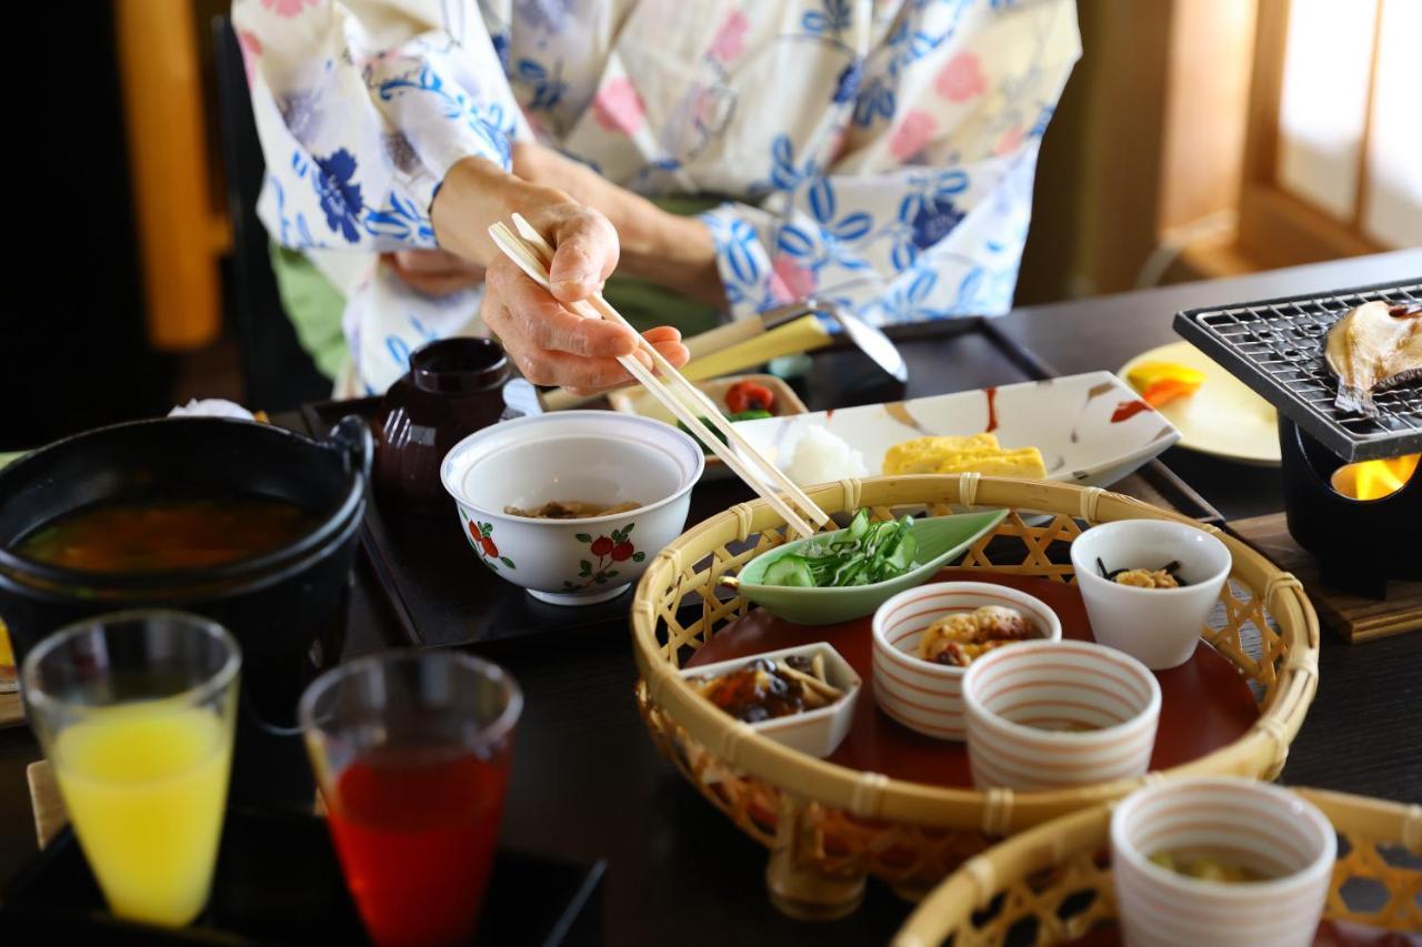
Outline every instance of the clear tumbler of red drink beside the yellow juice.
[[336, 850], [378, 947], [472, 938], [522, 708], [503, 668], [454, 651], [358, 658], [301, 695]]

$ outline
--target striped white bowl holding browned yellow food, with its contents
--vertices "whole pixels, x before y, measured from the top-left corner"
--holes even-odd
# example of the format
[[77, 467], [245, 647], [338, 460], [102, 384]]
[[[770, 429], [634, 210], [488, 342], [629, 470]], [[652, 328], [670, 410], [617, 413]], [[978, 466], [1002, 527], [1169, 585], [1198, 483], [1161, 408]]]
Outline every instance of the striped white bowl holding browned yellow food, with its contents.
[[940, 582], [883, 603], [873, 620], [875, 701], [909, 729], [964, 739], [963, 675], [983, 656], [1021, 641], [1059, 641], [1041, 599], [983, 582]]

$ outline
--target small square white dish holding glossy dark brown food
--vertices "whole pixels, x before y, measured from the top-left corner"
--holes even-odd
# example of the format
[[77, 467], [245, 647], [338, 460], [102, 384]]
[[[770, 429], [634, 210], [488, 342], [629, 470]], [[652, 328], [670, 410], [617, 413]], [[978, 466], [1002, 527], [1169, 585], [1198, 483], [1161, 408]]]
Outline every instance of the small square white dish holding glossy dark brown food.
[[860, 680], [828, 641], [681, 671], [704, 698], [778, 744], [828, 756], [845, 741]]

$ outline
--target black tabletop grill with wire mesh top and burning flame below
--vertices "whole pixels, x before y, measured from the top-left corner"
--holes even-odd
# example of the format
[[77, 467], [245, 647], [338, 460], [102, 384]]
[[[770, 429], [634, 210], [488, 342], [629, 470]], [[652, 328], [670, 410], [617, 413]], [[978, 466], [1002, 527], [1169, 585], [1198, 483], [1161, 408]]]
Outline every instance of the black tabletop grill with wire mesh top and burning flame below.
[[1364, 303], [1422, 309], [1422, 277], [1325, 296], [1179, 313], [1175, 328], [1278, 411], [1288, 532], [1328, 584], [1372, 599], [1422, 580], [1422, 474], [1376, 499], [1335, 486], [1340, 468], [1422, 452], [1422, 384], [1374, 394], [1374, 415], [1335, 405], [1328, 330]]

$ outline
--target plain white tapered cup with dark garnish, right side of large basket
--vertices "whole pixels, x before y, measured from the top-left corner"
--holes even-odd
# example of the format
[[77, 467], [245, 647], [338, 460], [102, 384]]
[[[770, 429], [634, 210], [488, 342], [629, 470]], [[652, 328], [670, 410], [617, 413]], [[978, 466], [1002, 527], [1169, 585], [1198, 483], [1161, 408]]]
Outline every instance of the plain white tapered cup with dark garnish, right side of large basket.
[[[1101, 576], [1098, 559], [1111, 572], [1160, 569], [1179, 562], [1176, 574], [1189, 584], [1179, 589], [1123, 586]], [[1233, 559], [1224, 543], [1197, 526], [1122, 519], [1092, 526], [1072, 540], [1071, 565], [1096, 640], [1163, 671], [1185, 664], [1194, 654]]]

